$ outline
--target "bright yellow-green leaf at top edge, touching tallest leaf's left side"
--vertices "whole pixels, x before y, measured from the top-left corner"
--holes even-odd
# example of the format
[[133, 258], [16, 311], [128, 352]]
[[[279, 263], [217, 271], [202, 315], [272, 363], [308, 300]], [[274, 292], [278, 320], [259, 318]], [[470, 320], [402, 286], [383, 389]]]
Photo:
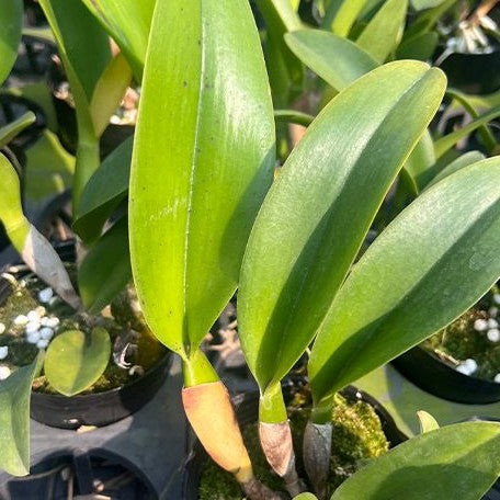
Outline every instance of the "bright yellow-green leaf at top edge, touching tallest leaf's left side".
[[156, 0], [82, 0], [125, 54], [140, 81]]

